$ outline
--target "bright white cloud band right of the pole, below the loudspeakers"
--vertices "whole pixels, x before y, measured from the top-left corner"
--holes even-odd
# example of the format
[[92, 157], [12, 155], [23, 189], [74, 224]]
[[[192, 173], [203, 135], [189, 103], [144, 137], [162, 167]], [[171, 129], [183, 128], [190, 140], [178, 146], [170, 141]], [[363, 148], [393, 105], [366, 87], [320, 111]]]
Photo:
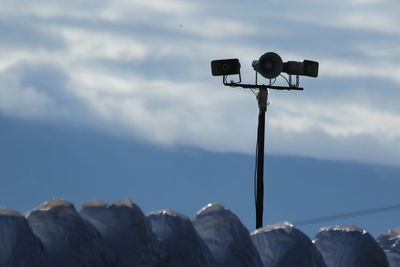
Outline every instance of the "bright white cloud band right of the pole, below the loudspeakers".
[[371, 135], [377, 139], [400, 138], [400, 117], [379, 107], [353, 102], [277, 103], [278, 112], [270, 119], [271, 126], [286, 132], [318, 129], [332, 137]]

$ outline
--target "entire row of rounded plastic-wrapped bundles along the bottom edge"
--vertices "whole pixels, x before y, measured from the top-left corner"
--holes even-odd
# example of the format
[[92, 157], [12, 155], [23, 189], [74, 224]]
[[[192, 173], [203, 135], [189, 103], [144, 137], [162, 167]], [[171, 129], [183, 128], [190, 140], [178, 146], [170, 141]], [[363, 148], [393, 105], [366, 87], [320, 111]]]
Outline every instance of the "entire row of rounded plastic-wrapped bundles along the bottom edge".
[[52, 199], [25, 215], [0, 209], [0, 267], [400, 266], [399, 232], [376, 241], [356, 226], [333, 226], [312, 241], [288, 222], [250, 233], [219, 204], [190, 219], [172, 210], [146, 216], [129, 200], [77, 211]]

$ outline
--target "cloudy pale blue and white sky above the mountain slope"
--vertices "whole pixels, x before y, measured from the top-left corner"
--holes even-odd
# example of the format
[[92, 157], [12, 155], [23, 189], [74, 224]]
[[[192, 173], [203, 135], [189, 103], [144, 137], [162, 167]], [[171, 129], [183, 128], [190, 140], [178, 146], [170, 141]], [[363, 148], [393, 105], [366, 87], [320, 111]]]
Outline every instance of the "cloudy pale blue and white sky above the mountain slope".
[[[267, 149], [400, 165], [397, 0], [0, 0], [0, 112], [151, 144], [253, 154], [257, 104], [210, 61], [320, 62], [273, 91]], [[277, 84], [284, 84], [283, 80]]]

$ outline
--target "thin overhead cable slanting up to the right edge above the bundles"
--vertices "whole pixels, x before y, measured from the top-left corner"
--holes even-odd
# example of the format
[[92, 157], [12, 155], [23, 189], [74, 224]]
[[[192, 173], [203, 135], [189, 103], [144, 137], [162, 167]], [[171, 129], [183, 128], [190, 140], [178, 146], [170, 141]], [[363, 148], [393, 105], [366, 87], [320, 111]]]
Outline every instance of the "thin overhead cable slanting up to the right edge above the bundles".
[[381, 208], [375, 208], [375, 209], [366, 209], [366, 210], [359, 210], [359, 211], [353, 211], [353, 212], [347, 212], [347, 213], [340, 213], [340, 214], [330, 215], [330, 216], [325, 216], [325, 217], [306, 219], [306, 220], [294, 222], [293, 224], [296, 226], [305, 226], [305, 225], [331, 222], [331, 221], [337, 221], [337, 220], [353, 218], [353, 217], [361, 217], [361, 216], [367, 216], [367, 215], [372, 215], [372, 214], [385, 213], [385, 212], [395, 211], [395, 210], [400, 210], [400, 204], [381, 207]]

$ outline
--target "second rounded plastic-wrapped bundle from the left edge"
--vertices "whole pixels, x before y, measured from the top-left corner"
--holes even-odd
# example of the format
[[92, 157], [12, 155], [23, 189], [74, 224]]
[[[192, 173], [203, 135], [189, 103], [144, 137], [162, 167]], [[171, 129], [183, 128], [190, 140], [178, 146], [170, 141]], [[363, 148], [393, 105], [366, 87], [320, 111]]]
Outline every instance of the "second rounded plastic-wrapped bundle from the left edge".
[[41, 240], [50, 266], [112, 266], [111, 254], [95, 228], [75, 207], [52, 199], [27, 214], [33, 233]]

